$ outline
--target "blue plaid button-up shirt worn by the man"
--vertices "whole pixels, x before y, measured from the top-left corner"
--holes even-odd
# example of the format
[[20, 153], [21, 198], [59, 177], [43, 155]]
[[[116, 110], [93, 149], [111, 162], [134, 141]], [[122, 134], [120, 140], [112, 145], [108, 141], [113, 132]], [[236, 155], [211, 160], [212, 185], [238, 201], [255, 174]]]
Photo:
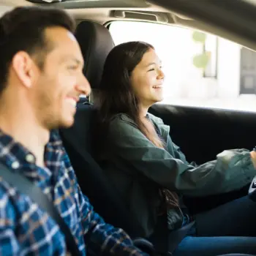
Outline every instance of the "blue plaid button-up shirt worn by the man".
[[[146, 255], [123, 230], [106, 224], [78, 186], [58, 132], [45, 147], [44, 168], [20, 143], [0, 132], [0, 161], [22, 172], [47, 194], [69, 226], [81, 255]], [[0, 173], [0, 255], [66, 255], [64, 235], [37, 202], [18, 192]]]

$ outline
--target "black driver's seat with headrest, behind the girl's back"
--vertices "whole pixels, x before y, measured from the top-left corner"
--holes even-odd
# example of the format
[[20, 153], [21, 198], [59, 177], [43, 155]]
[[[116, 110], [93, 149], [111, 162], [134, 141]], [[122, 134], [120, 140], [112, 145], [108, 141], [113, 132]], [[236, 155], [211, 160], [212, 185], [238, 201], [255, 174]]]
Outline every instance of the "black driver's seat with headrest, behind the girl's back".
[[[99, 88], [105, 59], [114, 47], [113, 39], [105, 26], [89, 20], [78, 24], [75, 36], [85, 61], [84, 75], [94, 91]], [[122, 227], [129, 236], [135, 238], [140, 236], [141, 232], [138, 230], [140, 225], [136, 225], [135, 219], [128, 213], [111, 181], [91, 156], [91, 134], [94, 129], [95, 111], [94, 106], [89, 103], [78, 104], [75, 124], [69, 129], [61, 129], [60, 135], [78, 177], [78, 183], [83, 193], [89, 197], [95, 211], [106, 222]], [[163, 226], [167, 227], [166, 223]], [[167, 237], [164, 230], [161, 229], [161, 233], [162, 236]], [[153, 236], [151, 241], [154, 242], [154, 239]], [[159, 239], [157, 247], [166, 252], [166, 246], [167, 241]]]

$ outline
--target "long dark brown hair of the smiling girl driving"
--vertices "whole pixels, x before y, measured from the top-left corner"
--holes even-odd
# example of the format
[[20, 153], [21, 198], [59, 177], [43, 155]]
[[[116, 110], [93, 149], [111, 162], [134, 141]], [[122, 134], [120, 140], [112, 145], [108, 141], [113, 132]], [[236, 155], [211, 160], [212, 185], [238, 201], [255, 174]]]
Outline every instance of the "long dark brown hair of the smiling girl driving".
[[140, 118], [139, 101], [130, 83], [132, 71], [150, 49], [154, 47], [146, 42], [125, 42], [110, 51], [105, 61], [95, 105], [99, 110], [100, 126], [105, 132], [113, 116], [125, 113], [151, 143], [162, 148], [162, 140], [154, 126], [148, 119]]

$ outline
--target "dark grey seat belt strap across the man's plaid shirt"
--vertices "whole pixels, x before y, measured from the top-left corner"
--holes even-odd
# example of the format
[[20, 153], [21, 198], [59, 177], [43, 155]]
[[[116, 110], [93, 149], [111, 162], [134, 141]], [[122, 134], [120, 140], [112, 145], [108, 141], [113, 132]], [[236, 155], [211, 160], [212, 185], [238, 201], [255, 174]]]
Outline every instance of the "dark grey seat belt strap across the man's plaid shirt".
[[72, 256], [81, 255], [78, 245], [75, 242], [75, 238], [72, 235], [69, 227], [64, 222], [64, 219], [59, 215], [59, 212], [56, 210], [56, 206], [53, 205], [53, 202], [50, 201], [39, 187], [36, 186], [32, 181], [29, 181], [28, 178], [22, 176], [20, 173], [14, 173], [8, 167], [0, 163], [0, 176], [4, 178], [4, 181], [7, 181], [13, 187], [17, 188], [19, 192], [24, 195], [28, 195], [31, 200], [33, 200], [39, 208], [46, 211], [48, 215], [55, 220], [61, 232], [65, 236], [67, 251]]

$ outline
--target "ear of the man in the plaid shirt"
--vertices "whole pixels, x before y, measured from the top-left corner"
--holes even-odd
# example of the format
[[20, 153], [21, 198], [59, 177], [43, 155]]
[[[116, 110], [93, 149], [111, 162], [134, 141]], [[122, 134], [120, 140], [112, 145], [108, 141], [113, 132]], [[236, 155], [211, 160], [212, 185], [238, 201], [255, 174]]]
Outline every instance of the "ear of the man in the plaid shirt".
[[36, 67], [34, 65], [33, 59], [28, 53], [24, 51], [19, 51], [12, 58], [12, 69], [18, 80], [26, 86], [31, 88], [34, 80], [36, 79]]

